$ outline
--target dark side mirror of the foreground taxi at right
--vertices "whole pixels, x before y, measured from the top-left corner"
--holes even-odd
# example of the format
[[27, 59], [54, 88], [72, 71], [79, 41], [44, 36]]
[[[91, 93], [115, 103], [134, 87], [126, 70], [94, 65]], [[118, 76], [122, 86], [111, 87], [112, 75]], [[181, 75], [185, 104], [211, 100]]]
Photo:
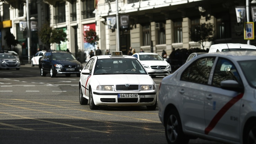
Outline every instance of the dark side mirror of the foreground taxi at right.
[[235, 92], [244, 92], [244, 87], [239, 85], [235, 80], [223, 80], [220, 82], [220, 87], [222, 89], [232, 90]]

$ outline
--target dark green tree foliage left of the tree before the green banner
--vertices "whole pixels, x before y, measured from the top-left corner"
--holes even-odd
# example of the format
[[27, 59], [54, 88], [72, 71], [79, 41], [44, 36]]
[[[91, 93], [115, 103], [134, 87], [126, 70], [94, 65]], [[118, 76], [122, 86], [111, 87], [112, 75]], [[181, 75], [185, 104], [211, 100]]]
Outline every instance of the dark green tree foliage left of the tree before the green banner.
[[52, 27], [49, 26], [49, 23], [44, 23], [42, 25], [42, 28], [38, 31], [38, 37], [40, 38], [40, 40], [46, 44], [46, 45], [50, 45], [50, 37], [51, 37], [51, 33], [52, 33]]

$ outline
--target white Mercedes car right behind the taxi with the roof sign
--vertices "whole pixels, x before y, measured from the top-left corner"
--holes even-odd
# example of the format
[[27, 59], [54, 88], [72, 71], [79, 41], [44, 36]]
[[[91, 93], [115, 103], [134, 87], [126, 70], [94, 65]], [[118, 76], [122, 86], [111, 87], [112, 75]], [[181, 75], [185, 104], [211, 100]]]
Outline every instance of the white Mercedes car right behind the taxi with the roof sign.
[[145, 68], [156, 70], [156, 73], [150, 75], [155, 76], [167, 76], [171, 74], [171, 65], [167, 62], [167, 59], [162, 58], [160, 55], [152, 52], [139, 52], [132, 56], [136, 57]]

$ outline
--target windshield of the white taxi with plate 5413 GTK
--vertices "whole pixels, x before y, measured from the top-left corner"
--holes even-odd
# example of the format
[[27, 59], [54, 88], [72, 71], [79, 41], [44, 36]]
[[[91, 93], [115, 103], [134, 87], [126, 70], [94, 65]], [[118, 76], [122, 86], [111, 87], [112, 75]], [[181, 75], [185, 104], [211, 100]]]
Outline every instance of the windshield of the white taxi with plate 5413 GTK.
[[137, 59], [113, 58], [98, 59], [94, 75], [109, 74], [144, 74], [147, 72]]

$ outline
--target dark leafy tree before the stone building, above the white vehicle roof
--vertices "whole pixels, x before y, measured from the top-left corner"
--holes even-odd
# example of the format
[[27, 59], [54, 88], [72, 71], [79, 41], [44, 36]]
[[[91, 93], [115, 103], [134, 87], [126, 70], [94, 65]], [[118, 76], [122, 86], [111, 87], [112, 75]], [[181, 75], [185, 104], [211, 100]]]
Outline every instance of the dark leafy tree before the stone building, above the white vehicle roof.
[[212, 41], [214, 39], [213, 24], [201, 23], [199, 26], [196, 26], [194, 30], [191, 30], [190, 38], [195, 42], [199, 42], [204, 49], [206, 41]]

